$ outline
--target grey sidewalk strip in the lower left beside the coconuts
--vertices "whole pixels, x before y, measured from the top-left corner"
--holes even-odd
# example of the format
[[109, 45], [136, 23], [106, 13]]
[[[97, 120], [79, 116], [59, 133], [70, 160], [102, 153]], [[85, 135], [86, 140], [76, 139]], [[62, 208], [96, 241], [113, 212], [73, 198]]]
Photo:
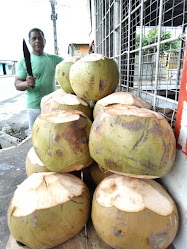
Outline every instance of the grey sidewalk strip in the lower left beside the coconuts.
[[5, 249], [10, 233], [7, 210], [17, 186], [26, 179], [25, 159], [32, 147], [31, 137], [18, 146], [0, 150], [0, 249]]

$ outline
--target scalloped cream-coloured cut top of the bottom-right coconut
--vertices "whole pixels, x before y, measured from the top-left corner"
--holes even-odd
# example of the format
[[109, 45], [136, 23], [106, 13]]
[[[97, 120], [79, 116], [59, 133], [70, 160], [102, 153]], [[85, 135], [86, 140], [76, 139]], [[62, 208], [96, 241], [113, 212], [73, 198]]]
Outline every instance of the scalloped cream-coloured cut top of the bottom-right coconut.
[[96, 200], [103, 207], [125, 212], [140, 212], [145, 208], [163, 216], [170, 215], [174, 201], [154, 180], [142, 180], [113, 174], [97, 188]]

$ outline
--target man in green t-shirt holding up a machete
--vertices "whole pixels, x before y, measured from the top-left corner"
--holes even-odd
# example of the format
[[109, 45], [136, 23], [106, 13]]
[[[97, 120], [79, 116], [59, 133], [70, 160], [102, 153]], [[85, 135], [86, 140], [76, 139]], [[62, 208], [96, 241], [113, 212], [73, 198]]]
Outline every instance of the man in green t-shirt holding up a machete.
[[46, 40], [44, 33], [38, 28], [30, 30], [29, 43], [32, 47], [31, 66], [34, 76], [28, 76], [25, 60], [22, 58], [18, 63], [14, 84], [17, 90], [26, 93], [29, 130], [32, 130], [35, 119], [41, 113], [41, 99], [56, 90], [55, 69], [63, 58], [44, 52]]

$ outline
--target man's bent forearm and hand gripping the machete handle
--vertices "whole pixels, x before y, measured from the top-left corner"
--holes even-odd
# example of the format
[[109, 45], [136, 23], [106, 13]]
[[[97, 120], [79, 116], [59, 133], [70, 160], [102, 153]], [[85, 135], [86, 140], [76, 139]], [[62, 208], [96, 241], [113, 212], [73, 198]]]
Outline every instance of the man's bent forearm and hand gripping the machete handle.
[[27, 76], [26, 80], [15, 77], [15, 82], [14, 85], [16, 87], [17, 90], [19, 91], [25, 91], [28, 88], [35, 86], [36, 82], [35, 82], [36, 77], [32, 77], [32, 76]]

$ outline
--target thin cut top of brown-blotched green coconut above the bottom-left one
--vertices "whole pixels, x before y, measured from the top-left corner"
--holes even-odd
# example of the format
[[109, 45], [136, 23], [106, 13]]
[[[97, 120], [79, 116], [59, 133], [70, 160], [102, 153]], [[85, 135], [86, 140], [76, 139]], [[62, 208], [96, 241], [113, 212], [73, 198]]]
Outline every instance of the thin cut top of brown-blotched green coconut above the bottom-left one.
[[79, 120], [80, 116], [86, 117], [84, 113], [78, 110], [57, 110], [41, 114], [38, 118], [57, 124]]

